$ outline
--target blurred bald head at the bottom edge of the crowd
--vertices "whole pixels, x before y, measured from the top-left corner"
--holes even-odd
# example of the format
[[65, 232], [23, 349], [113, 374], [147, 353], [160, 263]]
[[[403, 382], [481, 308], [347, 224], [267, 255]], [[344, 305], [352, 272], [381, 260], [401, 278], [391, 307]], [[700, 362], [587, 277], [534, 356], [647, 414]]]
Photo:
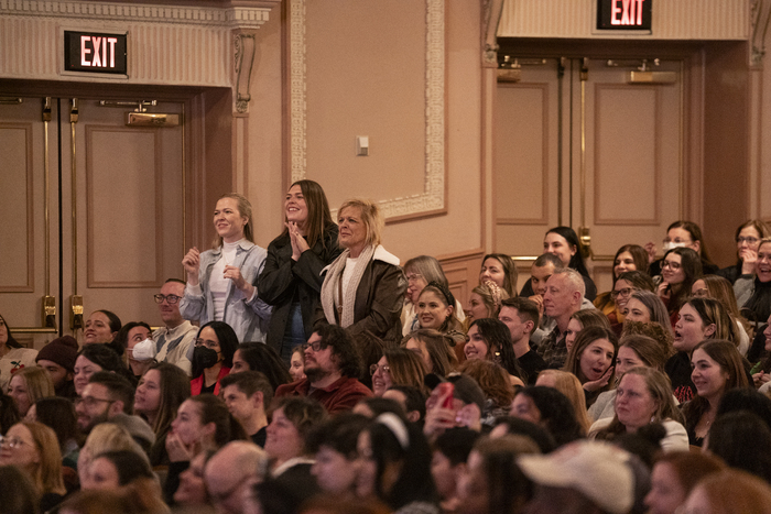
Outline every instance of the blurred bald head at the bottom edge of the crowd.
[[245, 514], [249, 489], [264, 480], [268, 455], [247, 441], [225, 445], [206, 462], [206, 490], [217, 512]]

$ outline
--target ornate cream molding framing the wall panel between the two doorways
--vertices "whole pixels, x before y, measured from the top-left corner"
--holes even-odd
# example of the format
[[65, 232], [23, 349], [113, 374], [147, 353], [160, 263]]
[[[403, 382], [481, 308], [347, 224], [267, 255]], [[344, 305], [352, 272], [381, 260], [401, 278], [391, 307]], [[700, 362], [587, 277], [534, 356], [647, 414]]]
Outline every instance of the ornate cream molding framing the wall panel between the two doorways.
[[[425, 0], [425, 172], [423, 193], [408, 197], [381, 199], [383, 216], [390, 222], [413, 216], [444, 212], [446, 196], [445, 155], [445, 4], [444, 0]], [[305, 100], [305, 0], [290, 4], [290, 123], [291, 182], [305, 178], [306, 100]]]

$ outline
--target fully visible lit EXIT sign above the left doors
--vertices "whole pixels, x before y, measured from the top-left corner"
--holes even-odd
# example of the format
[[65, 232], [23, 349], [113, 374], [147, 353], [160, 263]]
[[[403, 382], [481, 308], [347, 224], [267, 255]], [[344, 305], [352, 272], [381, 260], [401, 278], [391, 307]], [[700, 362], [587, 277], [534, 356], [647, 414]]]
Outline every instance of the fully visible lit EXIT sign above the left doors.
[[64, 31], [64, 69], [127, 75], [126, 37], [126, 33]]

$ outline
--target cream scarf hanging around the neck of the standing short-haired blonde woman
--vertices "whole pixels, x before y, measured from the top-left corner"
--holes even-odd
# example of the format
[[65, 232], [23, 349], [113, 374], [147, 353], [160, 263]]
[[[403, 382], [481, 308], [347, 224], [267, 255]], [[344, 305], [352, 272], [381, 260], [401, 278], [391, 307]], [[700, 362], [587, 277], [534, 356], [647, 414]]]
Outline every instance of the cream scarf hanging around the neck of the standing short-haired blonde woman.
[[[340, 316], [340, 327], [346, 328], [354, 325], [354, 307], [356, 306], [356, 292], [359, 288], [359, 282], [365, 274], [365, 270], [369, 265], [374, 255], [376, 248], [372, 245], [366, 247], [354, 267], [354, 274], [350, 276], [348, 287], [343, 292], [343, 314]], [[329, 264], [327, 276], [322, 284], [322, 307], [324, 307], [324, 316], [332, 325], [337, 325], [335, 316], [336, 308], [340, 306], [338, 293], [338, 283], [343, 280], [343, 270], [346, 267], [346, 260], [350, 256], [350, 250], [346, 249], [332, 264]]]

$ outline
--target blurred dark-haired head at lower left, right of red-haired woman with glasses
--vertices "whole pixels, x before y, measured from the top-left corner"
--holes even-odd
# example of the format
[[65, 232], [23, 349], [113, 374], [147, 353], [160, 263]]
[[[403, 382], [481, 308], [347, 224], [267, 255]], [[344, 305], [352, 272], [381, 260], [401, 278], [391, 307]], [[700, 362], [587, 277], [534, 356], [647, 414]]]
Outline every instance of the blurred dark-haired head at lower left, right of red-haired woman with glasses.
[[[80, 489], [115, 491], [137, 479], [158, 480], [145, 456], [131, 450], [105, 451], [91, 460], [88, 480], [80, 484]], [[158, 495], [161, 495], [160, 488], [158, 488]]]

